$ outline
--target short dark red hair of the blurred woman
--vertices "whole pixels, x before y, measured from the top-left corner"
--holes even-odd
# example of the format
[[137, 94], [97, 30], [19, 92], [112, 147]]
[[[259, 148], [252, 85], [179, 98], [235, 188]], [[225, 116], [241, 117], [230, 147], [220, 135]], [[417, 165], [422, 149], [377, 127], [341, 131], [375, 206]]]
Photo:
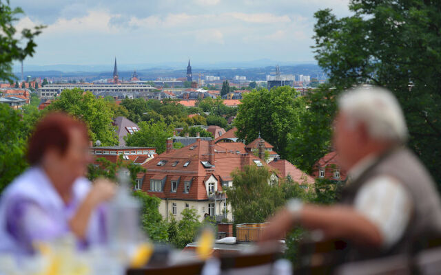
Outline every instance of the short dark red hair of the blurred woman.
[[89, 140], [88, 128], [66, 113], [50, 113], [46, 115], [32, 133], [28, 144], [28, 162], [38, 164], [48, 148], [56, 148], [64, 155], [69, 144], [72, 129], [78, 129], [85, 140]]

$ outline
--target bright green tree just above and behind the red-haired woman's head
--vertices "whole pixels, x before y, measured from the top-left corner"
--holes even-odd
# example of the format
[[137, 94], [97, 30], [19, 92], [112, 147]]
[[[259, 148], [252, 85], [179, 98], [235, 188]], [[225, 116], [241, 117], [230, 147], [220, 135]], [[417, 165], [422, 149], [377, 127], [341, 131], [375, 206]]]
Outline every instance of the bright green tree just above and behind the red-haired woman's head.
[[90, 92], [79, 88], [65, 89], [59, 99], [54, 100], [48, 107], [49, 111], [65, 111], [83, 120], [89, 128], [93, 142], [100, 140], [103, 146], [118, 144], [114, 126], [114, 113], [109, 102], [103, 98], [95, 98]]

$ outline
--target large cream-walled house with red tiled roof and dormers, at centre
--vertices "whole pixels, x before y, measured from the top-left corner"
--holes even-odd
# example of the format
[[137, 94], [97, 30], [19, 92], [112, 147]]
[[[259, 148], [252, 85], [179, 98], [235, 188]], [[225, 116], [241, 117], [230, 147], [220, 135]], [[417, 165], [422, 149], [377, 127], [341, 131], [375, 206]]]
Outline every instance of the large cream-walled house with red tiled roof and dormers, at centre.
[[[181, 149], [172, 148], [153, 161], [143, 164], [147, 172], [143, 176], [141, 190], [161, 198], [159, 210], [164, 217], [170, 214], [180, 217], [184, 208], [195, 208], [201, 219], [206, 215], [232, 219], [232, 211], [226, 204], [227, 186], [232, 186], [231, 173], [247, 165], [268, 166], [265, 161], [245, 151], [243, 143], [215, 144], [214, 140], [198, 140]], [[276, 174], [271, 181], [278, 181]]]

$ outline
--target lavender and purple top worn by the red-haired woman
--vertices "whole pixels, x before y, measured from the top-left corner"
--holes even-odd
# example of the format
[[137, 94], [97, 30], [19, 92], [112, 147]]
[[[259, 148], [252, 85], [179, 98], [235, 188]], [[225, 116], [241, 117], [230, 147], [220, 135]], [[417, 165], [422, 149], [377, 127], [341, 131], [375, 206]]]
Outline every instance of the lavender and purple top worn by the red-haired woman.
[[[33, 254], [34, 241], [51, 241], [70, 232], [69, 221], [88, 195], [85, 178], [72, 185], [72, 198], [65, 204], [44, 170], [32, 167], [14, 179], [0, 198], [0, 253]], [[86, 238], [79, 248], [105, 243], [103, 206], [92, 212]]]

